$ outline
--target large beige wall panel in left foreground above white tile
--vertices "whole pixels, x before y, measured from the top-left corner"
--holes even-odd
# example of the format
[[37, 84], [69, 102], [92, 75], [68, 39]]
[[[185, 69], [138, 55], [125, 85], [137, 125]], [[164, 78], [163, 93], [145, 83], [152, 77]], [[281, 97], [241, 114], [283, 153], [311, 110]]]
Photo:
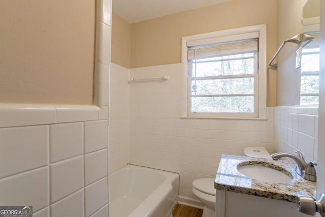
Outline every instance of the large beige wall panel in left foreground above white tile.
[[0, 102], [92, 104], [95, 1], [0, 0]]

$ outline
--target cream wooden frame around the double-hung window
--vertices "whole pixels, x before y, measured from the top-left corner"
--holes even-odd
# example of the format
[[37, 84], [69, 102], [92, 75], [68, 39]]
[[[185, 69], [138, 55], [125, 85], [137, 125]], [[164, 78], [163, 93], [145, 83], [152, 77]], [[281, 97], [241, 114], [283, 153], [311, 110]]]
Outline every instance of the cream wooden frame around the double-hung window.
[[[192, 80], [188, 76], [187, 49], [193, 43], [229, 42], [258, 36], [258, 73], [254, 75], [254, 113], [190, 112]], [[256, 38], [256, 37], [255, 37]], [[266, 24], [221, 30], [212, 33], [182, 37], [182, 116], [185, 118], [266, 119]], [[243, 76], [244, 77], [244, 76]], [[258, 101], [256, 103], [256, 100]]]

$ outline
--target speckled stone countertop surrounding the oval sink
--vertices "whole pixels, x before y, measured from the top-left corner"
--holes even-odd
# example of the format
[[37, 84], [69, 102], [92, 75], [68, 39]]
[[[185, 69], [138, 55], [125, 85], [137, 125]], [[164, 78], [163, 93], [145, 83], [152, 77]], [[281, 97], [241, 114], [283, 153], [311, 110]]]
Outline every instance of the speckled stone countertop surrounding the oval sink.
[[[265, 162], [269, 167], [277, 168], [293, 179], [287, 183], [270, 183], [258, 181], [241, 174], [237, 165], [256, 165]], [[263, 164], [263, 163], [262, 163]], [[271, 165], [270, 165], [271, 164]], [[296, 163], [288, 160], [222, 154], [218, 172], [214, 181], [217, 190], [224, 190], [259, 197], [296, 202], [297, 195], [309, 195], [315, 198], [316, 182], [303, 179], [296, 173]]]

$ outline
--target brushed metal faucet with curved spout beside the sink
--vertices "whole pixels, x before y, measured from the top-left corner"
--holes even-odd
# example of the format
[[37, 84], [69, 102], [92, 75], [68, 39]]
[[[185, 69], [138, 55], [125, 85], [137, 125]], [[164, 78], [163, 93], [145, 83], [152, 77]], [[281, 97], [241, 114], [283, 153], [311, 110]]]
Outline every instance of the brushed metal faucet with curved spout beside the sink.
[[316, 169], [314, 166], [317, 164], [315, 162], [306, 163], [303, 154], [300, 151], [295, 150], [299, 156], [291, 153], [278, 152], [271, 154], [273, 160], [279, 160], [282, 157], [287, 157], [293, 159], [297, 163], [296, 172], [306, 180], [316, 181]]

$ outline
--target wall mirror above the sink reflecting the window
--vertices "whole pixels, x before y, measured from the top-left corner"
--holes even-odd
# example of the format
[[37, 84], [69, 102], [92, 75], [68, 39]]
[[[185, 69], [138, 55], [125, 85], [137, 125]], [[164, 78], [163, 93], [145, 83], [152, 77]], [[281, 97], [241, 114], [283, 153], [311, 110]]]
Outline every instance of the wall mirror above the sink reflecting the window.
[[302, 32], [315, 38], [301, 53], [300, 105], [318, 105], [320, 0], [308, 0], [303, 8]]

